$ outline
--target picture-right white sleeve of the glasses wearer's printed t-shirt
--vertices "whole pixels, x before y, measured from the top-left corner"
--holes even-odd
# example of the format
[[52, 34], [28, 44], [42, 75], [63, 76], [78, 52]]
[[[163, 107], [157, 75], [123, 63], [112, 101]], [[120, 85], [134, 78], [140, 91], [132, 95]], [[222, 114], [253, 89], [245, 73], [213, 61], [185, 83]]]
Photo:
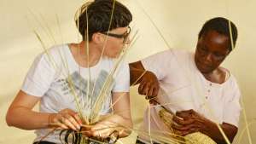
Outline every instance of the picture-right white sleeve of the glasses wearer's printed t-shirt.
[[130, 69], [127, 62], [123, 61], [114, 78], [113, 92], [129, 92], [130, 91]]

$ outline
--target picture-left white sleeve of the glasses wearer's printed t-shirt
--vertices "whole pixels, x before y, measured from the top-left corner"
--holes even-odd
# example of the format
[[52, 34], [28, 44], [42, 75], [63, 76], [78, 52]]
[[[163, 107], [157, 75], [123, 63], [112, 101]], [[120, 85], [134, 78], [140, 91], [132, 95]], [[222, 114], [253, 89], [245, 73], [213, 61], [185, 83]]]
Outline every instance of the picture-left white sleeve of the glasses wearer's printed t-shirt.
[[28, 95], [41, 97], [49, 89], [55, 78], [55, 69], [46, 54], [41, 54], [33, 61], [26, 74], [21, 90]]

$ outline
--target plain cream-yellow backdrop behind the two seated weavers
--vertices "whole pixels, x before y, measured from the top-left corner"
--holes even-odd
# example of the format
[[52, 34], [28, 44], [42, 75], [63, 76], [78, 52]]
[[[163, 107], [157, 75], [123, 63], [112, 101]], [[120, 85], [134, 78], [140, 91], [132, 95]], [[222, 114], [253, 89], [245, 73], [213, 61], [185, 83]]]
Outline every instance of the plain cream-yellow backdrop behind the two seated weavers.
[[[236, 76], [241, 88], [242, 106], [239, 132], [233, 143], [256, 142], [256, 1], [255, 0], [122, 0], [131, 9], [134, 20], [131, 26], [139, 30], [139, 39], [130, 49], [127, 60], [140, 60], [148, 55], [169, 49], [159, 32], [148, 20], [143, 9], [159, 27], [160, 32], [173, 49], [195, 50], [197, 34], [206, 20], [223, 16], [232, 20], [238, 28], [236, 49], [224, 61], [223, 66]], [[38, 53], [42, 52], [40, 42], [32, 32], [42, 35], [46, 47], [57, 43], [76, 43], [78, 33], [73, 21], [76, 9], [82, 0], [0, 0], [0, 143], [32, 143], [33, 131], [10, 128], [5, 123], [5, 114], [14, 99], [28, 68]], [[54, 33], [55, 42], [45, 35], [42, 26]], [[137, 87], [131, 88], [132, 117], [135, 128], [143, 120], [147, 101], [137, 94]], [[254, 106], [254, 108], [253, 108]], [[245, 120], [247, 116], [247, 120]], [[244, 130], [245, 122], [250, 124]], [[123, 141], [134, 143], [134, 132]]]

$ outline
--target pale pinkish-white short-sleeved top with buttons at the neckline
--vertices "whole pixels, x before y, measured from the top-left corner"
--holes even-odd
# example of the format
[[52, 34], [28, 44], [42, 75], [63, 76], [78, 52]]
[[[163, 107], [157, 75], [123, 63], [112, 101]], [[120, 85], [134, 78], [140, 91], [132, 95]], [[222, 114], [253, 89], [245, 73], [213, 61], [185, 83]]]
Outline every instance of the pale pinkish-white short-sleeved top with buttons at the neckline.
[[[194, 55], [169, 49], [142, 60], [147, 71], [159, 79], [157, 101], [172, 112], [194, 109], [202, 116], [222, 124], [238, 126], [241, 96], [236, 78], [226, 69], [223, 84], [208, 81], [195, 66]], [[160, 106], [159, 106], [160, 107]], [[148, 131], [148, 109], [144, 114], [143, 131]], [[150, 130], [157, 134], [170, 132], [160, 120], [155, 107], [150, 108]], [[140, 138], [147, 140], [147, 136]]]

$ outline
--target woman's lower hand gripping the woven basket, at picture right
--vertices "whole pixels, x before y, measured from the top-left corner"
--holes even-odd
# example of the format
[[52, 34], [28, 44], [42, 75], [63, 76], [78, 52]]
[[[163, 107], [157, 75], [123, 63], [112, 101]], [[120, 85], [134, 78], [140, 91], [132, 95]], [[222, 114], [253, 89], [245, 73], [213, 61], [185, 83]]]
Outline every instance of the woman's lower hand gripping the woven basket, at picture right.
[[207, 129], [212, 124], [210, 120], [204, 118], [193, 109], [176, 112], [172, 120], [176, 123], [172, 124], [172, 128], [176, 130], [178, 135], [188, 135], [198, 131], [206, 134]]

